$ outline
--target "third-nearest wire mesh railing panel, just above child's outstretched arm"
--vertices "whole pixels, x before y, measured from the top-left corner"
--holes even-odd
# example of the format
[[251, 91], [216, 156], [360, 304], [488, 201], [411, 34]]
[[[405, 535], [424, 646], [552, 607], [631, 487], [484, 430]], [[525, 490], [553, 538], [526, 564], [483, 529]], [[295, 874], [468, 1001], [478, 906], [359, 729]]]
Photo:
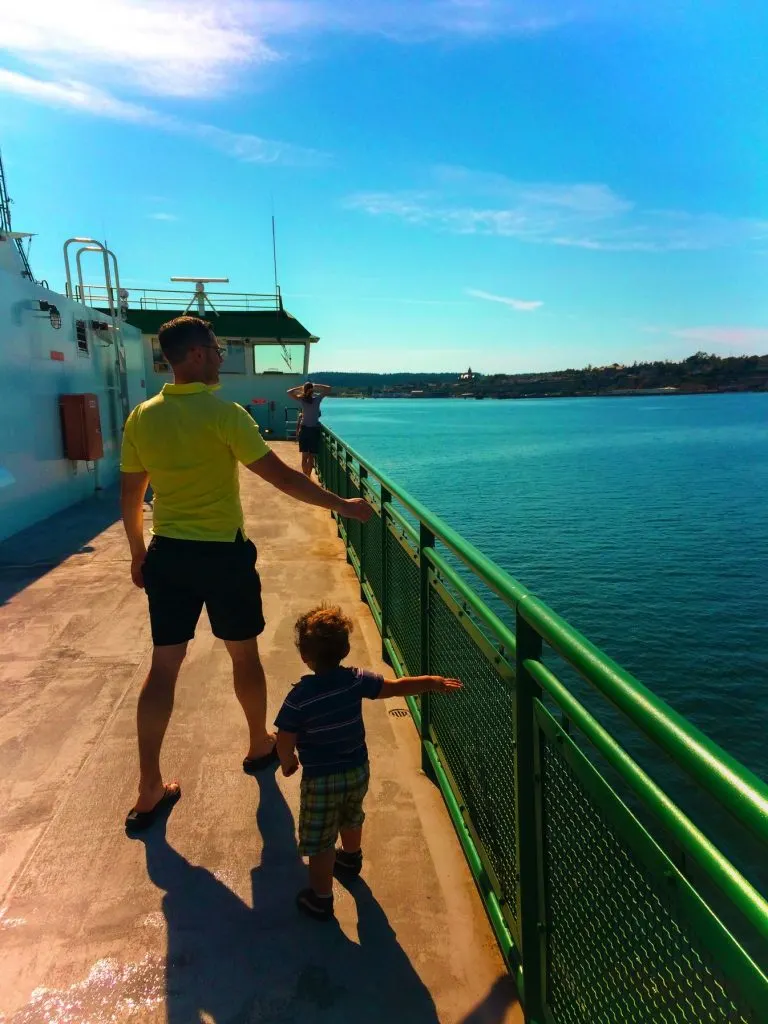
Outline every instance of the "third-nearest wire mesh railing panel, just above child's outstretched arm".
[[[421, 672], [421, 594], [418, 555], [404, 539], [387, 530], [387, 606], [389, 635], [411, 676]], [[406, 546], [408, 545], [408, 546]]]

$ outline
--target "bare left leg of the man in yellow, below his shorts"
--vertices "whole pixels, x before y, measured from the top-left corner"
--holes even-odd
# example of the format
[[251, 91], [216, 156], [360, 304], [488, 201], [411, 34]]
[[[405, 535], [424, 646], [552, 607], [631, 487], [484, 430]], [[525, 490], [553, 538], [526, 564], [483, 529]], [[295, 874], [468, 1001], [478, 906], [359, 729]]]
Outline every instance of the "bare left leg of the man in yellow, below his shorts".
[[185, 643], [156, 647], [150, 674], [139, 693], [136, 709], [139, 765], [137, 811], [151, 811], [165, 793], [160, 751], [173, 711], [176, 680], [185, 654]]

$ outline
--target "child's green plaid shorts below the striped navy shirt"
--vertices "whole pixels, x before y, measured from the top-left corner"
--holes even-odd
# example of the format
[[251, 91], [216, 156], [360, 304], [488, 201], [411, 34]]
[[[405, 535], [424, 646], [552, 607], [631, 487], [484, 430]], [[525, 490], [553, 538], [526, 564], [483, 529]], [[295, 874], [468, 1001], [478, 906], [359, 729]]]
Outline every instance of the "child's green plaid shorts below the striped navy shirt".
[[371, 773], [368, 761], [357, 768], [301, 780], [299, 853], [313, 857], [336, 845], [342, 828], [359, 828]]

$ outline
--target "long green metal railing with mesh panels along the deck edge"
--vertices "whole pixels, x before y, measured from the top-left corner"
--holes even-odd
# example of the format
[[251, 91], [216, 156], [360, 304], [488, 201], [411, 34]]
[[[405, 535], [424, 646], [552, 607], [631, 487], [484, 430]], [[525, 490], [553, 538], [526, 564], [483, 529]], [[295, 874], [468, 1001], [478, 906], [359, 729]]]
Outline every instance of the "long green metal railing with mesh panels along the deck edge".
[[768, 902], [545, 658], [725, 809], [763, 863], [768, 786], [326, 428], [318, 469], [374, 507], [337, 521], [385, 657], [464, 682], [409, 706], [526, 1019], [768, 1022]]

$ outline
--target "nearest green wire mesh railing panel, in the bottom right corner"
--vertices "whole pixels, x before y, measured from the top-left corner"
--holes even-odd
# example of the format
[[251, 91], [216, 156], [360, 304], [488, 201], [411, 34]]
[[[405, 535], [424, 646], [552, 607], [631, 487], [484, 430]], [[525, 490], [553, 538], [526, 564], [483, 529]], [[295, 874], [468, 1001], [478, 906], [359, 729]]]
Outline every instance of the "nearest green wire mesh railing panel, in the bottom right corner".
[[[547, 1001], [557, 1024], [758, 1024], [676, 902], [543, 737]], [[616, 801], [618, 804], [618, 801]]]

